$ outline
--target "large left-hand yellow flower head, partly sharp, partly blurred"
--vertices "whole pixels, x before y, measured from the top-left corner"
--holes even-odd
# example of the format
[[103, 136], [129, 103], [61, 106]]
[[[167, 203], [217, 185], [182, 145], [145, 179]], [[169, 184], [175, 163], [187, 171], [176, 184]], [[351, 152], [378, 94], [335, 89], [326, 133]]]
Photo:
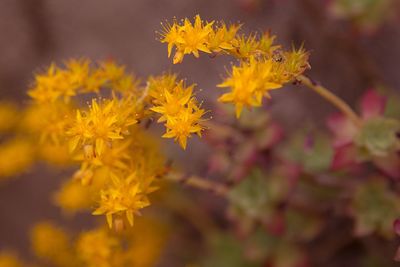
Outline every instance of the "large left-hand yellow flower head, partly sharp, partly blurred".
[[[110, 227], [133, 225], [134, 215], [150, 205], [155, 178], [165, 173], [163, 156], [145, 132], [146, 122], [160, 114], [158, 121], [166, 126], [163, 137], [186, 148], [187, 139], [204, 129], [205, 111], [193, 88], [173, 74], [150, 77], [141, 86], [111, 60], [95, 64], [72, 59], [38, 73], [28, 92], [33, 101], [22, 116], [21, 130], [39, 137], [34, 147], [46, 147], [46, 157], [59, 151], [62, 155], [54, 161], [67, 158], [80, 164], [54, 194], [55, 204], [66, 213], [97, 206], [93, 214], [105, 215]], [[83, 95], [91, 100], [82, 105], [77, 97]], [[33, 156], [18, 158], [20, 164], [7, 165], [4, 172], [33, 161]]]

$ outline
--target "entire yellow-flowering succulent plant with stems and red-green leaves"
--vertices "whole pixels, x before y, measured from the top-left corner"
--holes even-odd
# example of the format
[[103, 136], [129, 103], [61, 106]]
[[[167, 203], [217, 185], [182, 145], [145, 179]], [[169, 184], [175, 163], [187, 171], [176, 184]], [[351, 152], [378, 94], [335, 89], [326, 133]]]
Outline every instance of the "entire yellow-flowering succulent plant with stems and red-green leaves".
[[[212, 111], [197, 99], [196, 85], [174, 73], [140, 80], [114, 61], [86, 58], [35, 73], [23, 109], [0, 103], [0, 156], [15, 159], [0, 160], [0, 177], [37, 162], [70, 170], [53, 203], [68, 216], [103, 218], [80, 233], [50, 221], [36, 224], [30, 239], [38, 266], [155, 266], [164, 250], [173, 255], [185, 247], [187, 255], [170, 266], [311, 266], [303, 245], [327, 235], [328, 220], [354, 224], [353, 234], [343, 233], [346, 242], [393, 238], [393, 221], [400, 233], [398, 189], [388, 186], [400, 178], [399, 114], [387, 115], [386, 98], [374, 90], [362, 97], [358, 114], [304, 74], [310, 68], [305, 46], [284, 49], [270, 32], [246, 35], [241, 28], [199, 15], [162, 23], [159, 40], [174, 64], [202, 53], [235, 60], [216, 85], [226, 90], [218, 98], [223, 104]], [[331, 135], [310, 126], [285, 136], [259, 108], [289, 84], [338, 108], [327, 120]], [[183, 150], [192, 136], [205, 134], [211, 178], [178, 171], [150, 129], [153, 122]], [[225, 206], [218, 211], [226, 216], [214, 216], [211, 198], [197, 203], [180, 184], [220, 197]], [[154, 210], [148, 209], [152, 202]], [[327, 216], [333, 210], [337, 214]], [[182, 221], [195, 230], [181, 229]], [[200, 233], [207, 257], [198, 244], [176, 236], [179, 246], [166, 246], [173, 232]], [[2, 266], [35, 265], [2, 252]]]

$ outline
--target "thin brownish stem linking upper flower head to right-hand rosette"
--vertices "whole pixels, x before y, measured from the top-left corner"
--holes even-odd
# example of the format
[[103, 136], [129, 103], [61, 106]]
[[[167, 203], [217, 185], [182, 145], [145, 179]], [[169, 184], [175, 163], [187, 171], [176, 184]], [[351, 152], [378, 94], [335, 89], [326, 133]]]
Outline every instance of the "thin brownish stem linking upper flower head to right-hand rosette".
[[341, 98], [333, 94], [325, 87], [315, 83], [313, 80], [305, 75], [300, 75], [296, 78], [301, 84], [305, 85], [309, 89], [313, 90], [321, 97], [325, 98], [328, 102], [336, 106], [341, 112], [343, 112], [349, 119], [356, 125], [361, 126], [361, 118], [353, 111], [353, 109], [344, 102]]

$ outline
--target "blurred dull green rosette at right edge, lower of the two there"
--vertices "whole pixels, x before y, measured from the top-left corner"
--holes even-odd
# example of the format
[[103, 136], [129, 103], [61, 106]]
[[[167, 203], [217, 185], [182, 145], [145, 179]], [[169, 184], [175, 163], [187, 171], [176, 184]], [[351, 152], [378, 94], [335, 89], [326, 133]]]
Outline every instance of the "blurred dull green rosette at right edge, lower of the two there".
[[352, 212], [357, 235], [377, 232], [392, 237], [393, 221], [400, 214], [400, 199], [388, 189], [384, 179], [370, 180], [357, 189]]

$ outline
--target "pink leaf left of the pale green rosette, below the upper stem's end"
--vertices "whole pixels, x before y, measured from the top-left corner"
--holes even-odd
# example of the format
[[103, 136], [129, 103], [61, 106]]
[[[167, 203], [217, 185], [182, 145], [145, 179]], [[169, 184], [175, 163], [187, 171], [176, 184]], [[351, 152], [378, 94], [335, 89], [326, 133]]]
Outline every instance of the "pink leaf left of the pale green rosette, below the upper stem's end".
[[335, 147], [352, 143], [358, 132], [357, 127], [342, 114], [331, 115], [327, 120], [327, 126], [335, 136], [333, 141]]

